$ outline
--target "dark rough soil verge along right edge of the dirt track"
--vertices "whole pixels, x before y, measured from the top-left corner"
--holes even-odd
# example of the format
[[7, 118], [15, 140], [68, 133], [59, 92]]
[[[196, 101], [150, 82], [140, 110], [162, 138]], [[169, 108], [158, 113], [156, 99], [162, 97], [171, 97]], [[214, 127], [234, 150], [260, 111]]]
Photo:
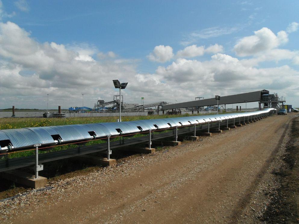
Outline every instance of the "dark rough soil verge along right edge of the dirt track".
[[260, 218], [266, 223], [299, 222], [299, 117], [293, 119], [283, 160], [285, 165], [273, 171], [281, 186], [268, 195], [272, 201]]

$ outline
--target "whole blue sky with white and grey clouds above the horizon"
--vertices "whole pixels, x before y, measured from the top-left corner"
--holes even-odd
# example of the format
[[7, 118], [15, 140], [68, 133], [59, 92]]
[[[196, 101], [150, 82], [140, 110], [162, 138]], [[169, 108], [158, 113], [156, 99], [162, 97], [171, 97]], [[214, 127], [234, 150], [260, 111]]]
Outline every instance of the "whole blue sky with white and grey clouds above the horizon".
[[266, 89], [298, 107], [298, 9], [273, 0], [0, 0], [0, 108], [45, 109], [47, 94], [49, 108], [82, 106], [82, 94], [93, 107], [118, 94], [113, 79], [129, 83], [126, 103]]

